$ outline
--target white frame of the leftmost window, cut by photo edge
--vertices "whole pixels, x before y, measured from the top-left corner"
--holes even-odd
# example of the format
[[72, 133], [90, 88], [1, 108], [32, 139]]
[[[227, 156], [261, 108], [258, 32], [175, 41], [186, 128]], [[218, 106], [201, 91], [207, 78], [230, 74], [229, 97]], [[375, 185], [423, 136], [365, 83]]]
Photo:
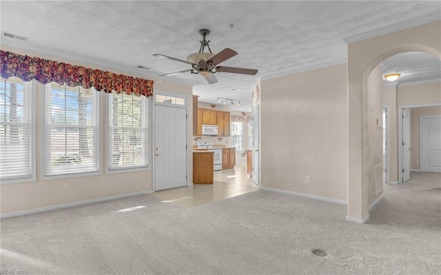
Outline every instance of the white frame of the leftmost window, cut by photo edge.
[[[19, 79], [18, 77], [16, 77]], [[21, 79], [20, 79], [21, 80]], [[5, 81], [5, 79], [0, 79]], [[6, 79], [8, 81], [8, 79]], [[23, 80], [21, 80], [23, 81]], [[29, 183], [37, 181], [37, 81], [23, 81], [29, 83], [30, 99], [30, 176], [23, 178], [2, 179], [0, 184]]]

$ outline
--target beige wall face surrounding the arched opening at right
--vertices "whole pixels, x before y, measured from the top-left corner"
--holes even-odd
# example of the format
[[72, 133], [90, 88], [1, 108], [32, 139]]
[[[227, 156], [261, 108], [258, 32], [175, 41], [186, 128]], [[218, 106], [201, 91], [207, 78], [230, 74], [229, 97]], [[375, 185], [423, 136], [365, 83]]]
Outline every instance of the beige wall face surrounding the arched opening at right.
[[441, 59], [441, 21], [384, 34], [348, 45], [348, 209], [347, 220], [365, 223], [373, 182], [367, 176], [372, 163], [365, 155], [368, 143], [368, 79], [376, 66], [402, 52], [426, 52]]

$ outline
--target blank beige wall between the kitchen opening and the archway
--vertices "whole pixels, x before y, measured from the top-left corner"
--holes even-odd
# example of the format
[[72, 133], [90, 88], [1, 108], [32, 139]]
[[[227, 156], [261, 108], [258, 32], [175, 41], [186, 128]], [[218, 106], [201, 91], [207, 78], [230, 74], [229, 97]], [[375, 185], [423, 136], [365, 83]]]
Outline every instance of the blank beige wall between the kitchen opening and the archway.
[[263, 80], [261, 90], [261, 186], [346, 201], [346, 64]]

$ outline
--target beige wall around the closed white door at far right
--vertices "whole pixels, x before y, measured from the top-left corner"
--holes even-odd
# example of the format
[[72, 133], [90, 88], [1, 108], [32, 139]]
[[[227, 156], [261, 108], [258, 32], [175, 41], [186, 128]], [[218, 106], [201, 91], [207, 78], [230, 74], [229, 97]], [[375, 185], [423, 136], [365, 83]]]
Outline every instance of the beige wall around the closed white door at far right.
[[441, 106], [411, 109], [411, 170], [420, 170], [420, 116], [430, 114], [441, 115]]

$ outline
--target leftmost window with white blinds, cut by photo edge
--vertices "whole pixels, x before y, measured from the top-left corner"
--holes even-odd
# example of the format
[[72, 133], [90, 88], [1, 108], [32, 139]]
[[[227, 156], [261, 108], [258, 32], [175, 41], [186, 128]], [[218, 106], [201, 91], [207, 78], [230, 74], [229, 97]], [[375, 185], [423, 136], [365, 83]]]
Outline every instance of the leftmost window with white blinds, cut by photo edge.
[[15, 77], [0, 80], [0, 179], [33, 180], [32, 85]]

